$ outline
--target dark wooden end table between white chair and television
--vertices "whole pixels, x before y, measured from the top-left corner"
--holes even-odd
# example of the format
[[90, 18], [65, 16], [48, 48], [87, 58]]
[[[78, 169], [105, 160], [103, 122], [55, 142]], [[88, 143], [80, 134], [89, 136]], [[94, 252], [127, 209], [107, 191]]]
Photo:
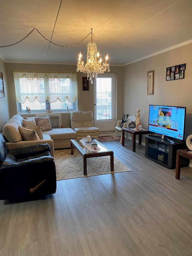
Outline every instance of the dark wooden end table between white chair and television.
[[133, 135], [133, 147], [132, 150], [135, 152], [135, 145], [136, 145], [136, 135], [139, 135], [139, 144], [141, 144], [141, 135], [142, 134], [152, 134], [153, 132], [143, 129], [143, 130], [134, 130], [133, 128], [122, 128], [122, 146], [125, 145], [125, 131], [131, 133]]

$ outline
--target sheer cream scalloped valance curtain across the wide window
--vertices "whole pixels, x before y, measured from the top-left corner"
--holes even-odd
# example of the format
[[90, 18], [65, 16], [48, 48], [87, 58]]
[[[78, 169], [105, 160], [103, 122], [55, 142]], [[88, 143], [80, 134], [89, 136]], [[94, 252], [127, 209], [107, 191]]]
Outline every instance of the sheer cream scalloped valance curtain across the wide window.
[[74, 73], [13, 71], [16, 100], [44, 103], [77, 99], [77, 75]]

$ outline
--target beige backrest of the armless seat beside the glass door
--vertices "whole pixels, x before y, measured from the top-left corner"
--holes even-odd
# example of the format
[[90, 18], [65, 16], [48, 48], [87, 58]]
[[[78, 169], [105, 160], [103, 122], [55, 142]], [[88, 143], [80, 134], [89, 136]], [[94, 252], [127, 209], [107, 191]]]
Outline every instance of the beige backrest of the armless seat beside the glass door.
[[94, 127], [92, 111], [73, 111], [70, 116], [71, 128]]

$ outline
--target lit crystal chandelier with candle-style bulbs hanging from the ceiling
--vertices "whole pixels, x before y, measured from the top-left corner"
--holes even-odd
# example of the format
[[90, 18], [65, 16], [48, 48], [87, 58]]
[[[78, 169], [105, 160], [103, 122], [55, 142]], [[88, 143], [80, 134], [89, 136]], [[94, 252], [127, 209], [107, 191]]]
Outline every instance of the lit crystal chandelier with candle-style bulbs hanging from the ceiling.
[[93, 84], [93, 78], [97, 78], [98, 74], [103, 74], [106, 70], [109, 72], [108, 54], [105, 58], [105, 63], [101, 65], [102, 59], [99, 59], [99, 51], [97, 51], [97, 44], [92, 41], [93, 33], [91, 29], [91, 42], [87, 44], [87, 63], [81, 60], [82, 54], [79, 53], [79, 61], [77, 62], [77, 72], [87, 73], [87, 79]]

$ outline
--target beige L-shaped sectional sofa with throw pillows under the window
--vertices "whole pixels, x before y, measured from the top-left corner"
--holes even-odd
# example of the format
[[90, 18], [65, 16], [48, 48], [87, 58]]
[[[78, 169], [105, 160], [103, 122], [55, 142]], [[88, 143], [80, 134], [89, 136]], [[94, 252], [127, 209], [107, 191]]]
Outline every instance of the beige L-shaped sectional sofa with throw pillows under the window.
[[48, 143], [51, 147], [50, 154], [54, 157], [54, 148], [68, 148], [70, 147], [70, 139], [76, 139], [76, 132], [72, 128], [55, 128], [42, 131], [43, 140], [23, 140], [19, 132], [19, 126], [23, 127], [22, 119], [23, 117], [17, 114], [3, 126], [2, 135], [7, 141], [9, 150]]

